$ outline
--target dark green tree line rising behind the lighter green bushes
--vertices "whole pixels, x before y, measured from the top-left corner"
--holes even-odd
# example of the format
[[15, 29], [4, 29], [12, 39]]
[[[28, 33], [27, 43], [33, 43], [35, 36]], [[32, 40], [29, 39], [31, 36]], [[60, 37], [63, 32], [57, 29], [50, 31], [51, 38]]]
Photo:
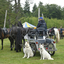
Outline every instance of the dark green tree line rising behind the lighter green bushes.
[[[12, 2], [14, 2], [14, 4], [12, 4]], [[29, 0], [25, 1], [24, 8], [20, 0], [0, 0], [0, 27], [3, 27], [6, 10], [6, 27], [11, 27], [12, 24], [16, 25], [22, 17], [38, 17], [38, 8], [40, 8], [40, 16], [42, 16], [43, 13], [45, 18], [64, 19], [64, 7], [61, 8], [61, 6], [56, 4], [43, 5], [43, 2], [40, 1], [38, 6], [34, 4], [31, 12]]]

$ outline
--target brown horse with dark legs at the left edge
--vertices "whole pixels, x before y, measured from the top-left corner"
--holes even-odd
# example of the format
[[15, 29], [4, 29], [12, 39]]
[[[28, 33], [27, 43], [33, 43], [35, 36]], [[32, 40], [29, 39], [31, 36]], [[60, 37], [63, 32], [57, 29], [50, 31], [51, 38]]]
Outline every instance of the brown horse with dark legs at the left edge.
[[12, 50], [13, 48], [13, 44], [14, 44], [14, 40], [15, 40], [15, 36], [14, 35], [11, 35], [10, 32], [12, 30], [12, 28], [14, 27], [15, 25], [12, 25], [11, 28], [0, 28], [0, 39], [1, 39], [1, 42], [2, 42], [2, 48], [1, 50], [3, 50], [3, 40], [5, 38], [8, 38], [9, 41], [10, 41], [10, 48]]

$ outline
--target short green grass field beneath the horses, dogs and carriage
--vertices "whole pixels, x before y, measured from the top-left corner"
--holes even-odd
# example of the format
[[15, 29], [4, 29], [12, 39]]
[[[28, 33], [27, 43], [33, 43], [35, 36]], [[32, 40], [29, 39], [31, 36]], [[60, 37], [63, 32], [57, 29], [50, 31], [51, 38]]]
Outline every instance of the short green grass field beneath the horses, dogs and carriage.
[[10, 42], [4, 39], [4, 49], [1, 50], [0, 41], [0, 64], [64, 64], [64, 39], [61, 39], [57, 45], [57, 51], [52, 56], [54, 60], [40, 60], [39, 52], [32, 58], [25, 58], [23, 52], [10, 51]]

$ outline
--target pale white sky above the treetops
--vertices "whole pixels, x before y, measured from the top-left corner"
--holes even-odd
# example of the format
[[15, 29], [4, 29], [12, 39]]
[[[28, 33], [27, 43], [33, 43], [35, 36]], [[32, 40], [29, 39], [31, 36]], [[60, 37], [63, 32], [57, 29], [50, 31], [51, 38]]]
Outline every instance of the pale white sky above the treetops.
[[[26, 0], [20, 0], [20, 1], [21, 1], [21, 5], [23, 7]], [[34, 6], [34, 3], [36, 3], [36, 5], [38, 6], [39, 1], [41, 1], [43, 3], [43, 5], [57, 4], [61, 7], [64, 7], [64, 0], [29, 0], [29, 1], [30, 1], [30, 3], [32, 3], [32, 4], [30, 4], [30, 11], [32, 11], [32, 7]]]

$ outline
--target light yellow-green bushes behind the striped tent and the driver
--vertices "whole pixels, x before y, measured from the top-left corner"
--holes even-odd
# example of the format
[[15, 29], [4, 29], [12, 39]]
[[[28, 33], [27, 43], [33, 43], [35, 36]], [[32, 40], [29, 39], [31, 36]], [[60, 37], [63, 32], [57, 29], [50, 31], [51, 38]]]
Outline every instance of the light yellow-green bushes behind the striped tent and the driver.
[[[60, 26], [63, 26], [64, 27], [64, 20], [60, 20], [60, 19], [49, 19], [49, 18], [44, 18], [46, 24], [47, 24], [47, 28], [51, 28], [51, 27], [57, 27], [59, 28]], [[22, 23], [24, 22], [29, 22], [35, 26], [37, 26], [38, 24], [38, 18], [37, 17], [22, 17], [20, 18], [20, 21]]]

